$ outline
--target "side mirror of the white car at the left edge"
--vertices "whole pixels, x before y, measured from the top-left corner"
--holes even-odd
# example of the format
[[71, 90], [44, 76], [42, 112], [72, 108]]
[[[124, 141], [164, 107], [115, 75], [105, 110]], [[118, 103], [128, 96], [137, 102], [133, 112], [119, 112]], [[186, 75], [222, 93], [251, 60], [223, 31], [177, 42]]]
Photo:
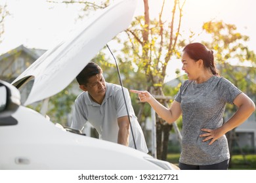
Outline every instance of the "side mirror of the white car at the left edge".
[[17, 88], [0, 80], [0, 118], [7, 118], [20, 106], [20, 92]]

